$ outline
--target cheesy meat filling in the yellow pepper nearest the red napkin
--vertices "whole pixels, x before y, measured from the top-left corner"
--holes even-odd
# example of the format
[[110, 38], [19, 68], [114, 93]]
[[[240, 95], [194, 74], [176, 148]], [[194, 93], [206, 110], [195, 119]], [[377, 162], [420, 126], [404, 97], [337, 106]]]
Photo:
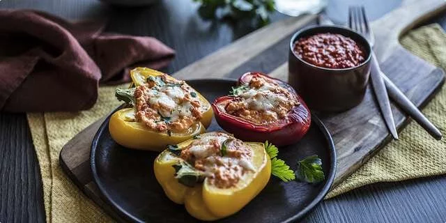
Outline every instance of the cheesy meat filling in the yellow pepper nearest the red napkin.
[[184, 81], [161, 75], [137, 86], [136, 121], [159, 132], [183, 132], [199, 121], [208, 107]]

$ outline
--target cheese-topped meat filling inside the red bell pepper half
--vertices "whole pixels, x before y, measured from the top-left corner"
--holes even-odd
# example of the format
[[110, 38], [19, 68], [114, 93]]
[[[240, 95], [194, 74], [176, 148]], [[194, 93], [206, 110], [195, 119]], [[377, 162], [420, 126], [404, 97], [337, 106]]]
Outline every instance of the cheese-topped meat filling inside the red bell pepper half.
[[240, 93], [226, 104], [225, 111], [259, 125], [286, 118], [291, 109], [299, 105], [288, 89], [261, 76], [252, 76], [249, 84], [239, 89]]

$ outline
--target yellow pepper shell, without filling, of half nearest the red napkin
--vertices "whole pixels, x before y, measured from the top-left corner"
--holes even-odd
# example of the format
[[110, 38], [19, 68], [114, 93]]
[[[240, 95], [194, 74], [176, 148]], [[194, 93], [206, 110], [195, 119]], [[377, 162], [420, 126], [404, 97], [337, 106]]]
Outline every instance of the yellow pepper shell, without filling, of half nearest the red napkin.
[[[164, 74], [149, 68], [135, 68], [130, 72], [134, 86], [146, 83], [148, 77], [160, 75]], [[167, 78], [174, 79], [174, 77], [170, 76], [167, 76]], [[212, 121], [213, 109], [203, 95], [197, 92], [197, 96], [201, 100], [202, 105], [209, 109], [203, 113], [200, 121], [194, 123], [184, 132], [171, 132], [171, 134], [167, 134], [165, 132], [151, 130], [144, 123], [139, 123], [134, 120], [134, 108], [120, 109], [112, 114], [109, 120], [109, 132], [114, 141], [122, 146], [141, 150], [162, 151], [167, 145], [178, 144], [197, 134], [206, 132], [206, 128], [208, 128], [210, 121]]]

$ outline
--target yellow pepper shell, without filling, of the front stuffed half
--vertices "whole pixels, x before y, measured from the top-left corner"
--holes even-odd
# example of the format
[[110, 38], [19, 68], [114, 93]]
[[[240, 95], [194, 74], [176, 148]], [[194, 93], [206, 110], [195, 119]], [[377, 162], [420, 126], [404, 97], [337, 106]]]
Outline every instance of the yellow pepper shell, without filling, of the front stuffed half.
[[[199, 138], [210, 134], [215, 132], [201, 134]], [[175, 147], [186, 148], [194, 140], [200, 139], [190, 139]], [[252, 164], [256, 171], [246, 172], [233, 187], [226, 189], [216, 187], [208, 182], [208, 178], [204, 178], [203, 183], [197, 183], [194, 187], [179, 183], [175, 177], [174, 165], [185, 161], [169, 149], [156, 158], [153, 167], [155, 177], [171, 201], [184, 203], [187, 212], [199, 220], [212, 221], [233, 215], [263, 190], [271, 175], [270, 157], [263, 144], [254, 142], [245, 144], [252, 149]]]

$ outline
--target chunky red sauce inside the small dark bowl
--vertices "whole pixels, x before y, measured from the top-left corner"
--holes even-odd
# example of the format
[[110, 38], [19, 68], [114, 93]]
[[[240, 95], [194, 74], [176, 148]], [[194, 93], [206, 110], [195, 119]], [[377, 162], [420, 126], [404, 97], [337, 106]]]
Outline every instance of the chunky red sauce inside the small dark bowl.
[[362, 46], [341, 34], [319, 33], [294, 43], [300, 59], [323, 68], [353, 68], [365, 60]]

